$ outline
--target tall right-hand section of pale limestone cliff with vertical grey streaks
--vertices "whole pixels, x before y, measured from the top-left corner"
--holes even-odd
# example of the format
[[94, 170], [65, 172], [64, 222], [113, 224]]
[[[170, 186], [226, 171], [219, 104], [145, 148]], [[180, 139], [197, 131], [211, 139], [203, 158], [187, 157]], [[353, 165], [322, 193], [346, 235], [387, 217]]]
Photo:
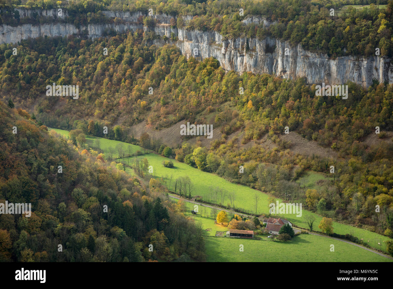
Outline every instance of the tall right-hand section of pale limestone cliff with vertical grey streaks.
[[[178, 38], [176, 46], [184, 55], [193, 56], [194, 48], [197, 48], [199, 57], [214, 57], [227, 71], [251, 71], [291, 79], [305, 77], [309, 84], [353, 81], [368, 87], [373, 79], [393, 83], [393, 65], [387, 57], [344, 56], [331, 59], [325, 54], [306, 51], [300, 44], [291, 47], [286, 41], [269, 37], [262, 41], [250, 38], [224, 40], [215, 31], [179, 29]], [[285, 48], [288, 48], [289, 55], [285, 55]]]

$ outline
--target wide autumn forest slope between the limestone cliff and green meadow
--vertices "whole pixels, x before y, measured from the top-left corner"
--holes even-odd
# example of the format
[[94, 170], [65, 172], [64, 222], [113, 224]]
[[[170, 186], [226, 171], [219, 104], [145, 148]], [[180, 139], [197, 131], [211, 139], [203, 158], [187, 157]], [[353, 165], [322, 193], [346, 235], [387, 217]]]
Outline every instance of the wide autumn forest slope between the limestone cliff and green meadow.
[[[347, 83], [348, 99], [316, 96], [315, 86], [303, 79], [225, 73], [215, 59], [186, 59], [174, 46], [151, 45], [152, 38], [135, 31], [94, 41], [23, 41], [23, 57], [3, 44], [4, 102], [12, 95], [16, 107], [29, 110], [40, 124], [132, 143], [138, 140], [131, 127], [143, 120], [156, 129], [179, 121], [212, 123], [222, 135], [211, 147], [175, 146], [166, 156], [285, 199], [293, 190], [292, 201], [303, 201], [309, 210], [323, 200], [329, 217], [391, 234], [392, 85], [375, 82], [365, 90]], [[53, 82], [78, 84], [79, 99], [46, 96]], [[286, 126], [334, 155], [292, 153], [292, 144], [280, 137]], [[377, 126], [377, 141], [366, 142]], [[139, 144], [159, 153], [165, 148], [154, 135], [144, 135]], [[294, 183], [307, 169], [329, 174], [330, 166], [336, 168], [334, 179], [318, 192]], [[377, 204], [380, 214], [374, 213]]]

